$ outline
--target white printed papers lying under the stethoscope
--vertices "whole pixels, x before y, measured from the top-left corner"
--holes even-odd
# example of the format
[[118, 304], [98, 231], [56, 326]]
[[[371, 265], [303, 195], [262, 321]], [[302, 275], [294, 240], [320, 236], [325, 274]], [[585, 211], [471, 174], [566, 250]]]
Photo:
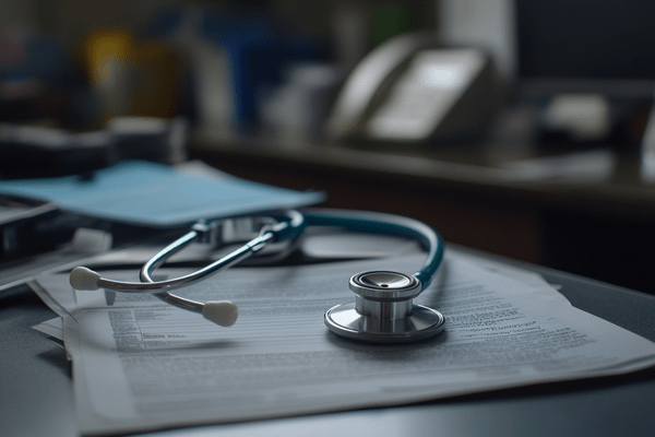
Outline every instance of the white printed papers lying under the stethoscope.
[[108, 307], [102, 292], [74, 293], [67, 274], [37, 276], [35, 288], [63, 316], [84, 434], [395, 405], [655, 364], [654, 343], [573, 308], [538, 276], [448, 250], [417, 299], [445, 316], [437, 338], [369, 345], [326, 330], [324, 310], [353, 299], [352, 274], [412, 273], [424, 259], [237, 268], [183, 292], [239, 305], [229, 329], [147, 295], [118, 294]]

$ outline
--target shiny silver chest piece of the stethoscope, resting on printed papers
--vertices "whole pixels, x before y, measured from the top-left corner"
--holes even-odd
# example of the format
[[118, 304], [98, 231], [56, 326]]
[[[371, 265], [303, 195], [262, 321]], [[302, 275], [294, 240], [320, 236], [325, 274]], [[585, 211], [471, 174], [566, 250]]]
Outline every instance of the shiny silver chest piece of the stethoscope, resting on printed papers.
[[325, 312], [325, 324], [349, 339], [373, 343], [405, 343], [424, 340], [443, 330], [443, 316], [413, 299], [421, 292], [420, 282], [404, 273], [373, 271], [350, 277], [354, 304], [343, 304]]

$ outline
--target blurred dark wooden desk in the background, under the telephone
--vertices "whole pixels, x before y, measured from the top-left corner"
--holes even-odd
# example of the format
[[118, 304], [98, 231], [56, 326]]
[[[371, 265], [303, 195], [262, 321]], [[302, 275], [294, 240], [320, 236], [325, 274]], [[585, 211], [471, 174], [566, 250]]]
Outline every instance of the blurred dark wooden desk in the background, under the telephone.
[[571, 151], [523, 138], [355, 149], [212, 131], [190, 151], [235, 176], [326, 191], [329, 208], [408, 215], [448, 241], [655, 294], [655, 185], [640, 180], [636, 153], [619, 152], [599, 181], [517, 181], [505, 163]]

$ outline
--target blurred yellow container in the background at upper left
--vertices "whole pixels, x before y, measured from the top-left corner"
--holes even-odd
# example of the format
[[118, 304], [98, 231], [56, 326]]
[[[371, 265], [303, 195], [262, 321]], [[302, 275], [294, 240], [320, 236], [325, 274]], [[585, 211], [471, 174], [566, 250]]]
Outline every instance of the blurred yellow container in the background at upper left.
[[84, 42], [88, 79], [102, 98], [102, 120], [179, 114], [179, 61], [163, 42], [140, 42], [123, 31], [97, 31]]

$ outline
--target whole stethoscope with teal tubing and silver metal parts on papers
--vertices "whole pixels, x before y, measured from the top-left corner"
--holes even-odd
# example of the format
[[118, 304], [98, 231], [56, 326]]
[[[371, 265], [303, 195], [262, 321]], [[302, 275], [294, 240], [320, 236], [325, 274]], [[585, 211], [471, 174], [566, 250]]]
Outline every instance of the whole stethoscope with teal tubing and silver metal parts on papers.
[[[264, 217], [199, 222], [189, 233], [143, 264], [140, 271], [142, 282], [114, 281], [85, 267], [78, 267], [70, 274], [70, 283], [73, 288], [81, 291], [105, 288], [123, 293], [152, 293], [170, 305], [202, 314], [216, 324], [229, 327], [236, 322], [239, 312], [231, 302], [203, 304], [171, 292], [228, 269], [254, 253], [261, 253], [267, 245], [293, 247], [308, 226], [337, 226], [353, 232], [409, 237], [418, 240], [428, 253], [422, 268], [413, 275], [379, 270], [352, 276], [348, 285], [355, 293], [355, 303], [336, 305], [325, 312], [325, 324], [332, 332], [367, 342], [404, 343], [427, 339], [443, 330], [444, 318], [439, 311], [413, 302], [430, 285], [443, 259], [443, 244], [439, 235], [416, 220], [383, 213], [285, 211]], [[243, 235], [252, 238], [193, 273], [166, 281], [152, 279], [155, 269], [192, 241], [221, 248]]]

